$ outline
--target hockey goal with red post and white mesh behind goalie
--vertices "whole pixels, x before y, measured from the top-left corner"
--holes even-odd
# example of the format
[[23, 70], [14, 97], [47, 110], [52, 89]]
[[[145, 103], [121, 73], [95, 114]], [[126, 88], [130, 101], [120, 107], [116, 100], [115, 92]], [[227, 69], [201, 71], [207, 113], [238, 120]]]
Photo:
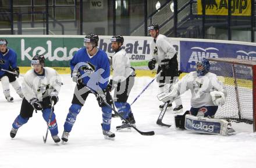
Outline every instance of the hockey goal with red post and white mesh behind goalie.
[[211, 72], [227, 89], [226, 103], [215, 118], [253, 123], [256, 131], [256, 61], [233, 58], [208, 58]]

